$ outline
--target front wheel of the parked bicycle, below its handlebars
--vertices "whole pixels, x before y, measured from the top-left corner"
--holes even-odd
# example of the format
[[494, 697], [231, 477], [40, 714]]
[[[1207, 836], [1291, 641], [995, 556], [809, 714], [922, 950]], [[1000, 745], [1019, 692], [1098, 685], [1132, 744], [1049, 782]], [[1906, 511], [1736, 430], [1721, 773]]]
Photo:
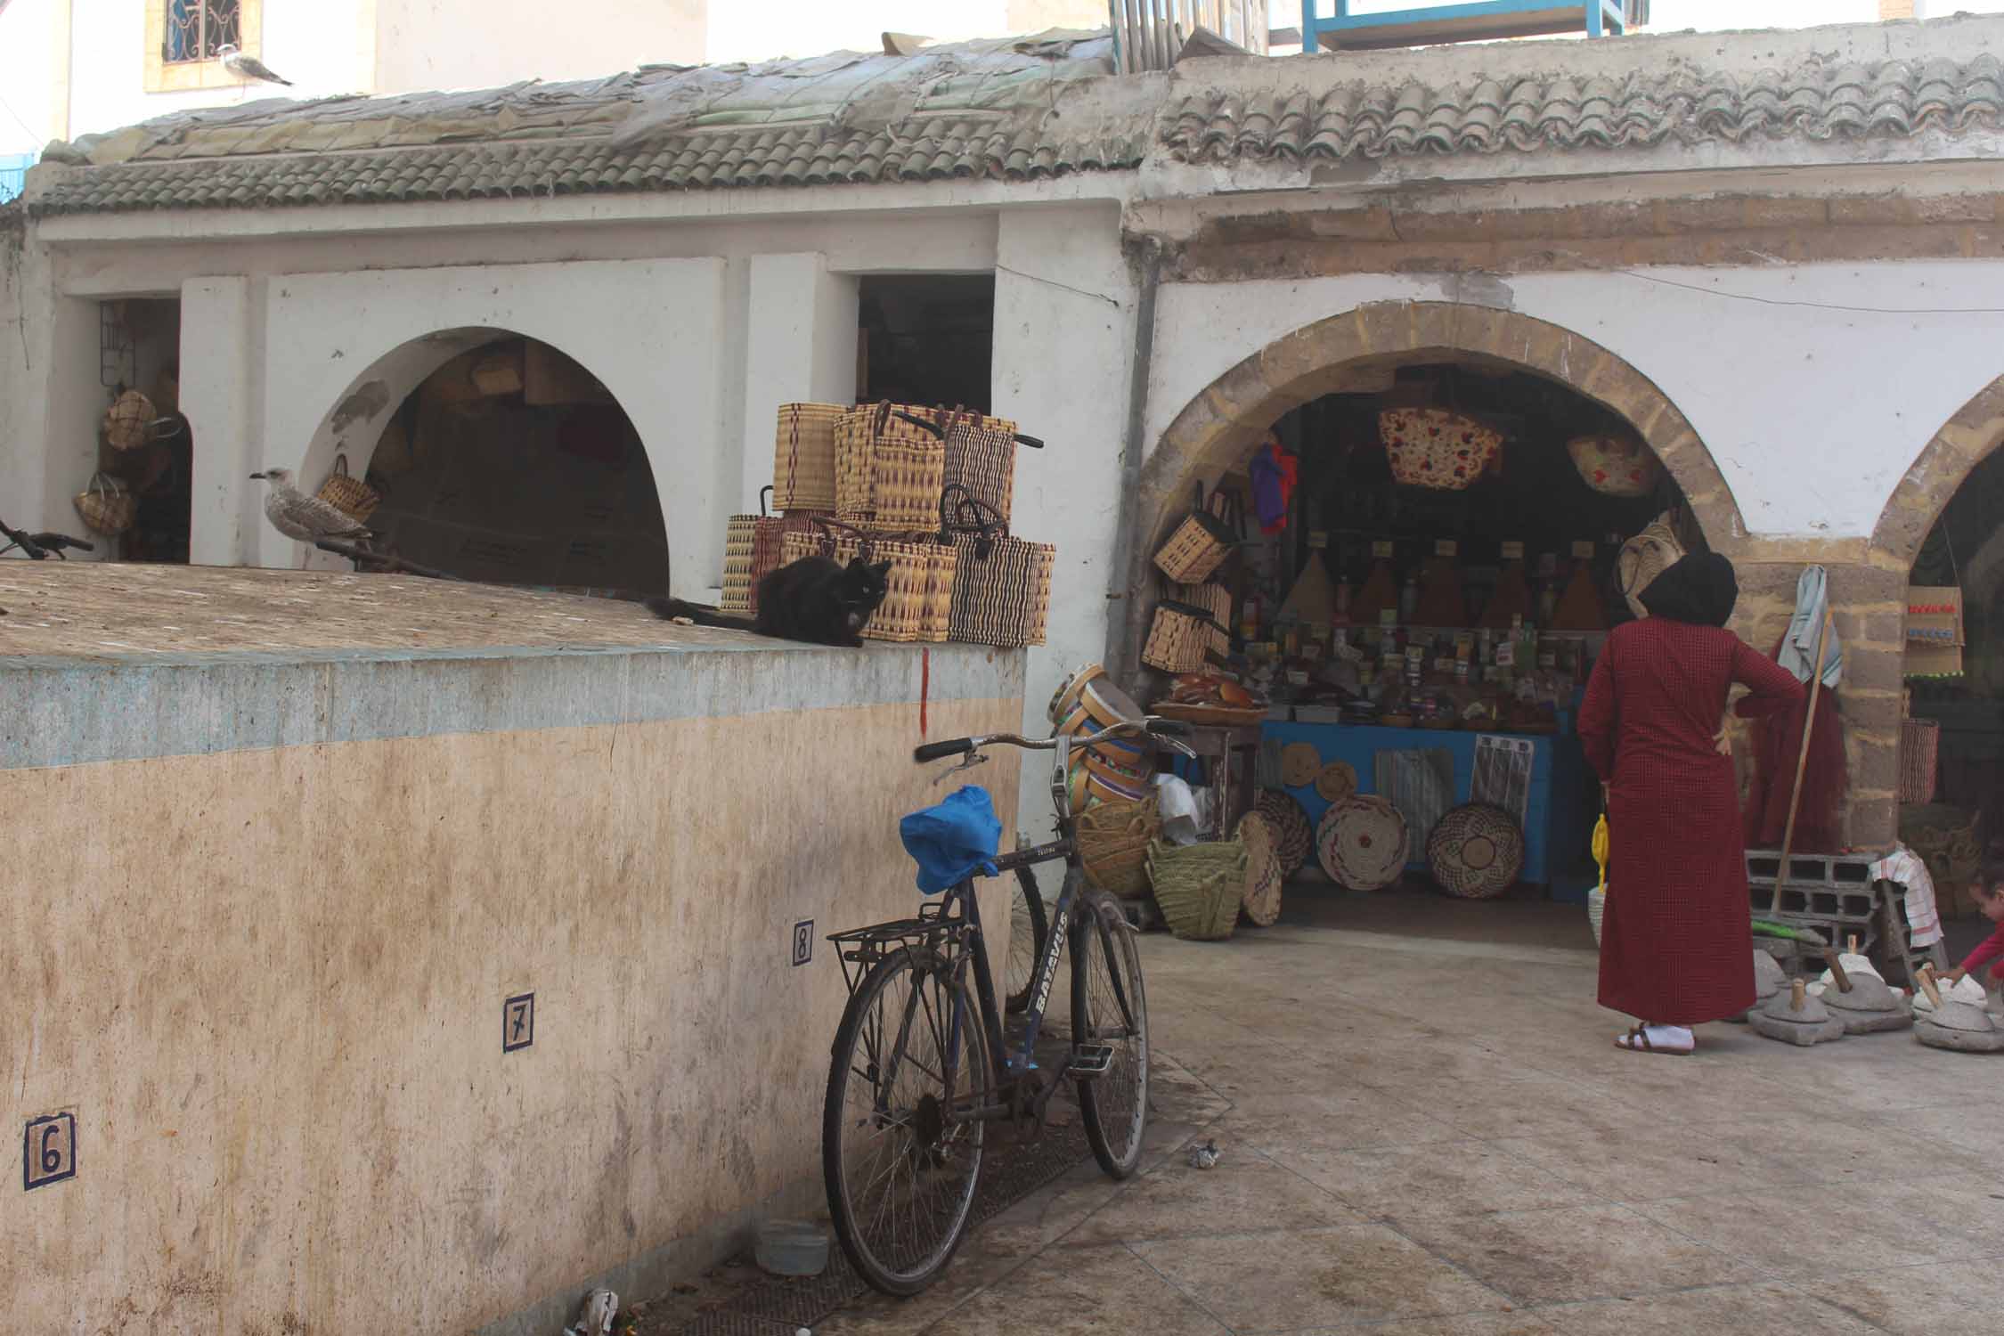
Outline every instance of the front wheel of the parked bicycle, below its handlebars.
[[1092, 1158], [1112, 1178], [1140, 1164], [1148, 1128], [1148, 995], [1134, 929], [1106, 891], [1088, 889], [1072, 927], [1072, 1044], [1102, 1044], [1106, 1068], [1078, 1082]]

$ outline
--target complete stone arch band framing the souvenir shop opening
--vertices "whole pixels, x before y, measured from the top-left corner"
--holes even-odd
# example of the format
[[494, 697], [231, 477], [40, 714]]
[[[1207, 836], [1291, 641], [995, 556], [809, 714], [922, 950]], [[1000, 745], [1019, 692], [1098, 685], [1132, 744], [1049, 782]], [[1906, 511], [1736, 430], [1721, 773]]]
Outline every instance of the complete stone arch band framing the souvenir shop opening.
[[[1385, 300], [1307, 324], [1244, 359], [1168, 425], [1140, 471], [1128, 589], [1148, 585], [1148, 561], [1188, 509], [1190, 483], [1214, 483], [1285, 413], [1323, 395], [1367, 389], [1401, 365], [1475, 359], [1541, 375], [1619, 413], [1683, 489], [1705, 541], [1727, 557], [1745, 521], [1711, 451], [1647, 377], [1573, 330], [1489, 306]], [[1132, 669], [1146, 633], [1144, 599], [1126, 599], [1114, 659]]]

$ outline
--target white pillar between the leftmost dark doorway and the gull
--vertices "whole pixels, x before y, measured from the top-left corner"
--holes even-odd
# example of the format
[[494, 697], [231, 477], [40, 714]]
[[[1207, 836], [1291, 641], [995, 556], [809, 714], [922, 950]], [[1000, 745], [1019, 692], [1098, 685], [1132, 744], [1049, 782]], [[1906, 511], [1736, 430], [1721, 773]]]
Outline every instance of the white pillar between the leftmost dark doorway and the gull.
[[180, 284], [180, 411], [194, 435], [188, 561], [234, 567], [255, 561], [255, 515], [263, 467], [253, 429], [255, 377], [248, 278], [188, 278]]

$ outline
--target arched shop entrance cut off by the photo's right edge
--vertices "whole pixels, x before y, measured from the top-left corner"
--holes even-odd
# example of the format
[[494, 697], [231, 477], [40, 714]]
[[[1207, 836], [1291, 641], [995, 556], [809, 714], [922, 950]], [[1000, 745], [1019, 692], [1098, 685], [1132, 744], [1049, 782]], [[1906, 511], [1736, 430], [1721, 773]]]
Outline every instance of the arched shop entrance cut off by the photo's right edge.
[[[1872, 561], [1908, 573], [1908, 715], [1900, 839], [1934, 873], [1950, 957], [1988, 933], [1968, 895], [2004, 837], [2004, 377], [1922, 451], [1872, 535]], [[1956, 609], [1944, 613], [1940, 609]], [[1930, 753], [1934, 753], [1930, 765]]]

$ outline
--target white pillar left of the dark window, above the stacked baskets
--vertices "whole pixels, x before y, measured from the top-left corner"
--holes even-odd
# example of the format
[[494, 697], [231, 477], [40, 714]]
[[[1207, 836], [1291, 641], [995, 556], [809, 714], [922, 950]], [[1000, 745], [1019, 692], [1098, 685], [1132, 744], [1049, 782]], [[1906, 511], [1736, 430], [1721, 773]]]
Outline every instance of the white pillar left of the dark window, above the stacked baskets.
[[828, 272], [828, 256], [752, 256], [739, 513], [772, 483], [780, 405], [856, 403], [856, 278]]

